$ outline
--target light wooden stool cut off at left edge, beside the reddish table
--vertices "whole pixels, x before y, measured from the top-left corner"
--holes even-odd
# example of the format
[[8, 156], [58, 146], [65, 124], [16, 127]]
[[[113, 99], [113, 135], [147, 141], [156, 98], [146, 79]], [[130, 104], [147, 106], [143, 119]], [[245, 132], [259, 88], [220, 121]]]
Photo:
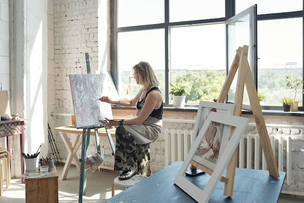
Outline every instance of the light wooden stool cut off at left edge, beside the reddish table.
[[6, 188], [10, 186], [11, 182], [11, 169], [10, 169], [10, 154], [6, 151], [4, 147], [0, 147], [0, 196], [3, 195], [3, 167], [2, 162], [5, 161], [5, 171], [6, 171]]

